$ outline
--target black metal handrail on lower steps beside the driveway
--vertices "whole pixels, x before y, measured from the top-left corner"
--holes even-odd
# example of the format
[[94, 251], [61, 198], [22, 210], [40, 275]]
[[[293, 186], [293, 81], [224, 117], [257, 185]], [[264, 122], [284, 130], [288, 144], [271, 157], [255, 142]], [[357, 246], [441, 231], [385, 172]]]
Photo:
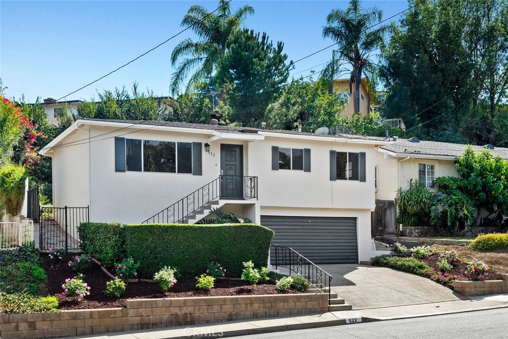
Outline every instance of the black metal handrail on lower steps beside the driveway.
[[321, 293], [326, 293], [328, 289], [328, 304], [330, 304], [332, 276], [292, 248], [276, 246], [273, 243], [271, 245], [275, 252], [275, 258], [271, 258], [275, 259], [275, 269], [288, 268], [290, 275], [292, 271], [295, 272]]

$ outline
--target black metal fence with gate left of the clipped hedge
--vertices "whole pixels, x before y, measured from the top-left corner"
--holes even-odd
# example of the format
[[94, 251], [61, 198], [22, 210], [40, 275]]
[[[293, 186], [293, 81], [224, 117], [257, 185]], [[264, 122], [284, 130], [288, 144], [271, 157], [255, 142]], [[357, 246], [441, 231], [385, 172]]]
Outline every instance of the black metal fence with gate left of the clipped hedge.
[[79, 250], [78, 226], [90, 220], [87, 207], [41, 207], [39, 244], [41, 250]]

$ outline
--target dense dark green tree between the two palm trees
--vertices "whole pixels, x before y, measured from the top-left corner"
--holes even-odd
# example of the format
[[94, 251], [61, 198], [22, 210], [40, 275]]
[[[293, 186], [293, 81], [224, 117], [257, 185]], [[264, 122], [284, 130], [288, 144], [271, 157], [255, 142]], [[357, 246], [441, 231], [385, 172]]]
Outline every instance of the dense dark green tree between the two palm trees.
[[255, 34], [246, 28], [233, 33], [215, 77], [233, 109], [230, 120], [256, 126], [278, 98], [293, 65], [293, 61], [286, 64], [283, 47], [282, 42], [274, 46], [266, 33]]

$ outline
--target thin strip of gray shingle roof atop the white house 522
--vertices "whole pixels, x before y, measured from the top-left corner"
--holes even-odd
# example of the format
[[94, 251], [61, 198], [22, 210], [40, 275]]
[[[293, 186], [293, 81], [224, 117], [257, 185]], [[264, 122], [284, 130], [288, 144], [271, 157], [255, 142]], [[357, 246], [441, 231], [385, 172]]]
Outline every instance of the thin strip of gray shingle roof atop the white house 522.
[[[314, 133], [309, 132], [298, 132], [298, 131], [284, 131], [284, 130], [262, 130], [253, 127], [241, 127], [241, 126], [220, 126], [220, 125], [205, 125], [205, 124], [189, 124], [187, 122], [176, 122], [176, 121], [157, 121], [157, 120], [108, 120], [108, 119], [87, 119], [82, 118], [81, 120], [92, 120], [92, 121], [106, 121], [106, 122], [119, 122], [121, 124], [130, 125], [146, 125], [146, 126], [162, 126], [162, 127], [180, 127], [180, 128], [192, 128], [201, 130], [212, 130], [221, 133], [241, 133], [241, 134], [257, 134], [258, 132], [270, 132], [270, 133], [281, 133], [281, 134], [293, 134], [302, 136], [316, 136]], [[137, 126], [139, 127], [139, 126]], [[331, 137], [331, 138], [347, 138], [347, 139], [360, 139], [360, 140], [374, 140], [374, 141], [387, 141], [387, 139], [381, 137], [370, 137], [363, 135], [352, 135], [352, 134], [335, 134], [335, 135], [319, 135], [320, 137]]]

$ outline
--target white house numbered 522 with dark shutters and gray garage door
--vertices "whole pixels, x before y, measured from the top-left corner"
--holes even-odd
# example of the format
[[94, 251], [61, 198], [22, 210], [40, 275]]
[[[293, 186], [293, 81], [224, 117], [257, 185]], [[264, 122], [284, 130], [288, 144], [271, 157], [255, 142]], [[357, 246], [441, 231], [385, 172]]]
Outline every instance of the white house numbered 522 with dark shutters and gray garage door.
[[274, 244], [315, 263], [358, 263], [372, 256], [376, 148], [388, 143], [80, 119], [41, 154], [52, 157], [53, 205], [89, 205], [91, 221], [195, 223], [220, 207], [273, 229]]

